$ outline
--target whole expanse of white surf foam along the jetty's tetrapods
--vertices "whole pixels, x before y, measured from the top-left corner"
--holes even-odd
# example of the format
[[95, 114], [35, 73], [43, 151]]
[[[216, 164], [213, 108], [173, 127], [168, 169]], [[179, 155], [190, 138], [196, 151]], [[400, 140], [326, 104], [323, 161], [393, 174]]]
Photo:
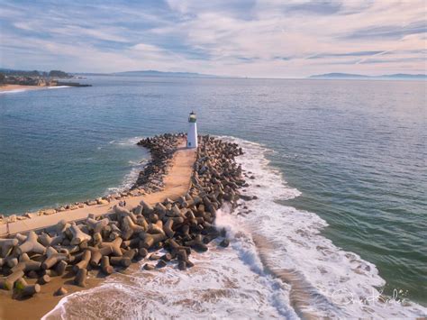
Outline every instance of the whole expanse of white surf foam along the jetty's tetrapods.
[[276, 202], [300, 192], [268, 166], [267, 149], [222, 138], [243, 147], [238, 161], [256, 178], [248, 179], [246, 193], [259, 197], [232, 213], [227, 206], [218, 211], [216, 224], [227, 230], [230, 247], [211, 242], [209, 251], [191, 254], [195, 267], [184, 272], [169, 266], [115, 274], [100, 287], [64, 297], [45, 319], [425, 315], [426, 309], [413, 303], [360, 302], [377, 297], [374, 286], [385, 284], [376, 266], [324, 238], [320, 231], [327, 224], [318, 215]]

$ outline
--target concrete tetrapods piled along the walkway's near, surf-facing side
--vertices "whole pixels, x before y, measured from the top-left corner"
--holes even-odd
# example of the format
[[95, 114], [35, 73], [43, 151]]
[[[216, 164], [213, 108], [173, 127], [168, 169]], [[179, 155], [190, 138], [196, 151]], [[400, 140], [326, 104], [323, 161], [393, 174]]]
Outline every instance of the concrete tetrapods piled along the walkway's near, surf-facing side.
[[[66, 272], [74, 283], [85, 287], [88, 271], [105, 275], [129, 267], [132, 261], [148, 258], [144, 270], [194, 266], [192, 251], [206, 251], [215, 238], [228, 246], [226, 234], [214, 226], [216, 211], [240, 198], [246, 186], [241, 167], [234, 158], [242, 153], [235, 143], [209, 136], [199, 137], [191, 187], [185, 197], [166, 199], [155, 206], [141, 201], [128, 210], [114, 206], [114, 213], [87, 217], [77, 224], [60, 221], [41, 233], [15, 234], [0, 239], [0, 288], [14, 289], [14, 297], [30, 297], [40, 292], [51, 277]], [[166, 253], [160, 255], [157, 251]], [[38, 279], [29, 285], [25, 279]], [[54, 294], [67, 293], [59, 288]], [[52, 293], [53, 294], [53, 293]]]

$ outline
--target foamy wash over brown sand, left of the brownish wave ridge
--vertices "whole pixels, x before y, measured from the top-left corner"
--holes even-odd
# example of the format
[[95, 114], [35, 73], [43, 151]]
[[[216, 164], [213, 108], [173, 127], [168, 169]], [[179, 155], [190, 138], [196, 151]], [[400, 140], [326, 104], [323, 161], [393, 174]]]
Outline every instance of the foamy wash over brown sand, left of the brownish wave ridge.
[[214, 242], [209, 251], [192, 253], [191, 270], [115, 274], [98, 288], [64, 297], [44, 318], [296, 319], [288, 286], [262, 271], [254, 249], [250, 238], [237, 234], [229, 248]]

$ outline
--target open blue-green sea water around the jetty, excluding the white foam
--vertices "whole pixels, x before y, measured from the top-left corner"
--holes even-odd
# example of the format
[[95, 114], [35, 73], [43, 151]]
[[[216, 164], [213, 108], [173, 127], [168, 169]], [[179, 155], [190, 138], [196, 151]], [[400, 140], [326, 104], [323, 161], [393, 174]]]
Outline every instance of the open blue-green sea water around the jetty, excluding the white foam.
[[[91, 77], [94, 87], [0, 95], [0, 213], [125, 187], [138, 137], [186, 130], [267, 147], [323, 235], [427, 305], [426, 83]], [[133, 170], [133, 171], [132, 171]], [[133, 172], [133, 174], [132, 174]]]

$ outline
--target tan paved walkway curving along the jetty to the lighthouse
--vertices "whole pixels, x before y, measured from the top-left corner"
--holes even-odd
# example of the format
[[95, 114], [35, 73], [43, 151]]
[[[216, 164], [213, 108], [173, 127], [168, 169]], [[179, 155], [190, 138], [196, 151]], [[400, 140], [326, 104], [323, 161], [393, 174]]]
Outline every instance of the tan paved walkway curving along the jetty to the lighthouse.
[[[150, 204], [163, 201], [165, 198], [172, 200], [183, 196], [190, 187], [191, 174], [195, 163], [195, 149], [186, 149], [186, 142], [180, 142], [173, 159], [171, 160], [168, 175], [163, 179], [165, 187], [162, 191], [139, 197], [127, 197], [126, 206], [138, 206], [143, 199]], [[26, 233], [31, 230], [42, 229], [57, 224], [64, 219], [68, 222], [86, 219], [87, 215], [104, 215], [112, 213], [113, 206], [120, 200], [111, 201], [108, 205], [85, 206], [76, 210], [67, 210], [53, 215], [40, 215], [32, 219], [25, 219], [9, 224], [0, 224], [0, 237], [14, 233]]]

